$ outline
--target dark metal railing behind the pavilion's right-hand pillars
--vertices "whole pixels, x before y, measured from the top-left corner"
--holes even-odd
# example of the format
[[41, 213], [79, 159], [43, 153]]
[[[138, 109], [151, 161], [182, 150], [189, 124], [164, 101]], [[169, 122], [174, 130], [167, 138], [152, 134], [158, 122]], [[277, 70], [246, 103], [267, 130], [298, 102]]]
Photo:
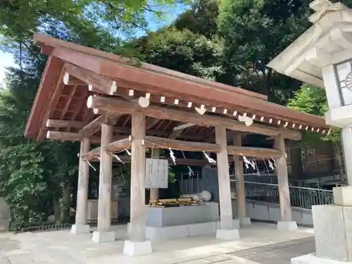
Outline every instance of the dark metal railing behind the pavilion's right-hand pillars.
[[[236, 196], [236, 182], [231, 180], [232, 195]], [[279, 204], [279, 186], [277, 184], [244, 182], [246, 199]], [[311, 209], [312, 206], [334, 203], [332, 191], [308, 187], [289, 186], [291, 206]]]

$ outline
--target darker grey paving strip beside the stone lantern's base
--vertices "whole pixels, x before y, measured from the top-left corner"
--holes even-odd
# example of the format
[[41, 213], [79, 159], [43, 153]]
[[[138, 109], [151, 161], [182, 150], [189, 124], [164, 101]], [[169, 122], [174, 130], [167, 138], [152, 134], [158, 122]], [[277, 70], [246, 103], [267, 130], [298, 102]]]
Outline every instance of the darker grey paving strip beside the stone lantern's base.
[[314, 238], [308, 237], [306, 239], [297, 239], [269, 246], [259, 246], [229, 254], [260, 264], [289, 264], [291, 263], [291, 258], [314, 252]]

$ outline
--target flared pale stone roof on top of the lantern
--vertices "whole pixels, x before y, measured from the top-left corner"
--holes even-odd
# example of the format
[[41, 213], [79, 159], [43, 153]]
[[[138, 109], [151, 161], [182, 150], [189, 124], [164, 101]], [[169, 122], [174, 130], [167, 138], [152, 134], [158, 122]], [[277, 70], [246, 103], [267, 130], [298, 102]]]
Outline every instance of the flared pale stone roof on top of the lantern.
[[310, 3], [313, 25], [274, 58], [268, 67], [302, 82], [325, 88], [322, 68], [352, 58], [352, 10], [341, 2]]

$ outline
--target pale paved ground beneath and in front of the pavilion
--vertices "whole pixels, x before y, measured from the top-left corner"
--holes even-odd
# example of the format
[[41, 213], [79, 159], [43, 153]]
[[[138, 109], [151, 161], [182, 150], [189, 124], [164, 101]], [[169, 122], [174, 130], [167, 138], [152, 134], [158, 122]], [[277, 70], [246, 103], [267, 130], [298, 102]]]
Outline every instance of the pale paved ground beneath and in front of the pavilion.
[[[172, 239], [153, 243], [151, 255], [130, 257], [122, 254], [127, 226], [114, 228], [116, 240], [105, 244], [92, 242], [92, 234], [75, 236], [69, 230], [0, 234], [0, 264], [286, 264], [279, 261], [291, 258], [291, 251], [293, 256], [312, 252], [306, 252], [312, 229], [283, 232], [276, 225], [253, 223], [240, 230], [236, 241], [221, 241], [214, 234]], [[297, 239], [307, 242], [304, 252]]]

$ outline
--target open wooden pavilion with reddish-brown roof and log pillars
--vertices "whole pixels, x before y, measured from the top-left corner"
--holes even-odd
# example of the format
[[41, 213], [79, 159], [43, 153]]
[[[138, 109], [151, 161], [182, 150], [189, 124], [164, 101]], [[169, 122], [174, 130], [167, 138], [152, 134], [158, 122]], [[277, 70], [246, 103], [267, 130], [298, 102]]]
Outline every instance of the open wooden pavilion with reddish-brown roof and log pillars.
[[[184, 232], [182, 228], [187, 228], [185, 236], [213, 232], [217, 239], [239, 239], [237, 221], [250, 223], [246, 219], [241, 155], [275, 158], [281, 211], [277, 228], [296, 228], [289, 199], [285, 139], [300, 140], [301, 131], [304, 130], [327, 134], [329, 127], [323, 118], [270, 103], [262, 94], [147, 63], [134, 66], [127, 58], [60, 39], [35, 34], [34, 42], [42, 47], [42, 54], [46, 54], [48, 59], [25, 136], [39, 141], [81, 142], [77, 213], [71, 230], [73, 234], [89, 232], [88, 162], [95, 160], [100, 162], [99, 212], [97, 230], [92, 240], [114, 240], [111, 232], [111, 179], [113, 162], [119, 162], [117, 159], [121, 151], [132, 153], [128, 157], [132, 163], [130, 239], [125, 241], [124, 248], [124, 253], [128, 255], [151, 253], [151, 242], [147, 240], [151, 233], [170, 235], [172, 232]], [[263, 149], [241, 146], [241, 133], [274, 138], [275, 147]], [[229, 137], [234, 139], [234, 146], [227, 146]], [[92, 149], [91, 144], [96, 143], [100, 143], [100, 147]], [[151, 207], [146, 206], [145, 201], [148, 171], [146, 148], [154, 146], [176, 151], [204, 151], [205, 156], [216, 153], [220, 217], [216, 206], [216, 219], [213, 222], [146, 226], [146, 218], [151, 217]], [[235, 157], [236, 163], [238, 220], [232, 217], [229, 155]], [[158, 164], [165, 165], [165, 160], [156, 160], [160, 161]], [[192, 164], [192, 161], [184, 161], [184, 164]], [[148, 167], [150, 165], [153, 167], [155, 163], [149, 163]], [[201, 208], [201, 205], [182, 208], [191, 213], [191, 210]], [[175, 210], [175, 219], [180, 215], [180, 211], [175, 208], [155, 209], [168, 209], [169, 213]]]

